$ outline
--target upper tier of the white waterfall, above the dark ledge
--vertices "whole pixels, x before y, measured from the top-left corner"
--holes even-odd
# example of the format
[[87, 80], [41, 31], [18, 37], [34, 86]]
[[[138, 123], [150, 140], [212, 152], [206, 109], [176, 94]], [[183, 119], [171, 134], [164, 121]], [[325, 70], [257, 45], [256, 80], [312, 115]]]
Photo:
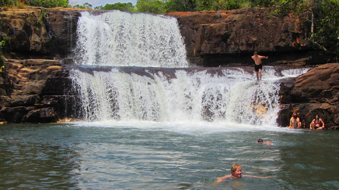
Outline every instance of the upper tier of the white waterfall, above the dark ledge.
[[76, 65], [188, 67], [177, 20], [118, 10], [78, 21]]

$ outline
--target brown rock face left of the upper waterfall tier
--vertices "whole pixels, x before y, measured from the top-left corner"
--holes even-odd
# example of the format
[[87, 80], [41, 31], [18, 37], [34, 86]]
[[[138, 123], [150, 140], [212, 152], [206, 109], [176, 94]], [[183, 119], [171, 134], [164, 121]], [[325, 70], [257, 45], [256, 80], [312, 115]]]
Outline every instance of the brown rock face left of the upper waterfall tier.
[[7, 58], [66, 58], [76, 40], [80, 11], [30, 7], [0, 13], [0, 37], [9, 37]]

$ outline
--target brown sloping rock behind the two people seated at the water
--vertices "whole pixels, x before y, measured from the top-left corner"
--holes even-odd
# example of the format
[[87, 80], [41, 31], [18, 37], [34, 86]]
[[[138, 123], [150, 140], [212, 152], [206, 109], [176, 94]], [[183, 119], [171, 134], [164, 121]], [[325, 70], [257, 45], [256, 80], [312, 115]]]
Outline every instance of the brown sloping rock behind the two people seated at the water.
[[288, 125], [293, 112], [297, 112], [306, 128], [319, 114], [324, 120], [325, 127], [339, 125], [339, 64], [318, 66], [299, 76], [294, 82], [282, 84], [281, 96], [283, 109], [278, 122]]

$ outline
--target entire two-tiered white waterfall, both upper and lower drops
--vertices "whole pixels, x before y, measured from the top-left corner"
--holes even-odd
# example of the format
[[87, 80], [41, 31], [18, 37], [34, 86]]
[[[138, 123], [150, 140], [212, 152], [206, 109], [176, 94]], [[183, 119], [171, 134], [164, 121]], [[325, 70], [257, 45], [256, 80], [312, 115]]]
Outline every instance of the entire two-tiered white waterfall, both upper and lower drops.
[[275, 81], [306, 72], [265, 67], [258, 85], [251, 67], [187, 68], [177, 21], [163, 16], [83, 12], [77, 32], [76, 63], [83, 66], [70, 76], [80, 109], [71, 117], [86, 121], [274, 126]]

